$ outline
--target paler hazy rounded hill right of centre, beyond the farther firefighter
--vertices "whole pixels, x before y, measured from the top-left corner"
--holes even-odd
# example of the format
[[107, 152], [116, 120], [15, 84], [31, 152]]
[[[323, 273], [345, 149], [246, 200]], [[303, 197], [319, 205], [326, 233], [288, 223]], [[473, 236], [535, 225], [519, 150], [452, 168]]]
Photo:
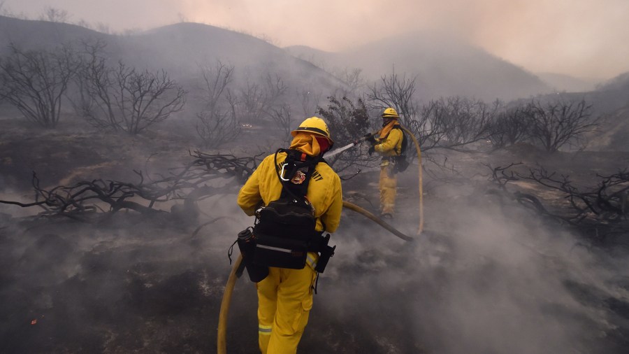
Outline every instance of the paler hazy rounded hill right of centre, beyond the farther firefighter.
[[378, 80], [393, 70], [406, 73], [407, 78], [417, 78], [417, 91], [426, 99], [461, 95], [509, 100], [552, 91], [533, 73], [438, 34], [394, 36], [335, 53], [305, 46], [285, 49], [327, 68], [360, 68], [366, 80]]

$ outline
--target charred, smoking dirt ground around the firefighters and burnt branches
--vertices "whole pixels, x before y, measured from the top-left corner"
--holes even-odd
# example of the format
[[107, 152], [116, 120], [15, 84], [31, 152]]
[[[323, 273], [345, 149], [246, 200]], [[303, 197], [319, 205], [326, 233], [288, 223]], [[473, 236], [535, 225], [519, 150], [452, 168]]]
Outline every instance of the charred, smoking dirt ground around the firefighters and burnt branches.
[[[133, 169], [185, 164], [192, 145], [173, 130], [126, 136], [13, 120], [3, 127], [0, 199], [20, 201], [31, 198], [32, 171], [42, 186], [133, 181]], [[626, 257], [581, 247], [584, 240], [483, 190], [484, 164], [542, 164], [588, 185], [626, 167], [629, 154], [547, 157], [516, 147], [447, 156], [461, 174], [440, 172], [451, 183], [424, 175], [419, 236], [417, 165], [398, 177], [391, 223], [416, 241], [344, 211], [300, 353], [626, 353]], [[343, 189], [345, 200], [377, 212], [376, 170]], [[22, 208], [0, 204], [0, 353], [215, 352], [227, 250], [252, 222], [236, 192], [203, 201], [195, 224], [129, 212], [92, 225], [24, 218]], [[229, 313], [229, 353], [256, 353], [255, 309], [245, 275]]]

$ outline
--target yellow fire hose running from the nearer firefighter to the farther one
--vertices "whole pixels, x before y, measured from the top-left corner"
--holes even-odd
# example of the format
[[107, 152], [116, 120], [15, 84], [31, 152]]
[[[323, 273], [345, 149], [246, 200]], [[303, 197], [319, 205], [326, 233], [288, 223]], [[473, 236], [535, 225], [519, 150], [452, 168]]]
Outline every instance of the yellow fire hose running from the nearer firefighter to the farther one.
[[[419, 229], [417, 230], [417, 234], [421, 234], [424, 230], [424, 189], [422, 187], [422, 175], [421, 175], [421, 151], [419, 150], [419, 143], [415, 136], [405, 127], [402, 129], [407, 132], [409, 136], [412, 137], [413, 142], [415, 144], [415, 148], [417, 148], [417, 157], [419, 161]], [[352, 204], [349, 201], [343, 201], [343, 207], [348, 208], [349, 210], [356, 211], [357, 213], [361, 213], [365, 215], [368, 219], [373, 220], [378, 225], [384, 227], [387, 231], [392, 234], [398, 236], [400, 239], [405, 241], [412, 241], [412, 237], [406, 236], [405, 234], [399, 232], [397, 229], [387, 224], [377, 216], [373, 215], [364, 208], [357, 206], [356, 204]], [[238, 259], [234, 262], [233, 267], [231, 268], [231, 272], [229, 273], [229, 278], [227, 278], [227, 283], [225, 285], [225, 291], [223, 292], [223, 299], [221, 301], [221, 310], [219, 313], [219, 323], [217, 330], [217, 353], [218, 354], [226, 354], [227, 353], [227, 315], [229, 313], [229, 305], [231, 304], [231, 293], [233, 292], [233, 288], [236, 285], [236, 281], [238, 280], [238, 276], [236, 275], [236, 271], [240, 267], [240, 263], [243, 262], [243, 255], [238, 255]]]

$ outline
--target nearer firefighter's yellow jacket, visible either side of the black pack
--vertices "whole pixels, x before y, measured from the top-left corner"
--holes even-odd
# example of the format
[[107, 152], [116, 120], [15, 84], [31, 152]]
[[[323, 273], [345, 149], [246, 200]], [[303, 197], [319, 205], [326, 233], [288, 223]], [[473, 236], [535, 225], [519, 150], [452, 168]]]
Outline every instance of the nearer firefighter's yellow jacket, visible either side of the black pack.
[[[282, 183], [275, 171], [274, 156], [268, 155], [238, 192], [238, 205], [254, 215], [256, 208], [267, 206], [280, 198]], [[277, 164], [286, 159], [286, 153], [277, 154]], [[308, 184], [308, 201], [315, 207], [317, 231], [323, 231], [323, 221], [327, 232], [334, 232], [340, 222], [343, 204], [341, 183], [338, 174], [325, 162], [319, 162]]]

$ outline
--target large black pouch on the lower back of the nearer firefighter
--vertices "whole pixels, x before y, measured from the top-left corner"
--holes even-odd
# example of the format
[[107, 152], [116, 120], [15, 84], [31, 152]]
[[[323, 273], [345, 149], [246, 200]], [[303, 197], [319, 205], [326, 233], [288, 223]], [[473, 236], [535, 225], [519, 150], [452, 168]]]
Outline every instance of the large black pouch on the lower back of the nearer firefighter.
[[290, 197], [256, 211], [254, 264], [303, 269], [315, 230], [310, 204]]

